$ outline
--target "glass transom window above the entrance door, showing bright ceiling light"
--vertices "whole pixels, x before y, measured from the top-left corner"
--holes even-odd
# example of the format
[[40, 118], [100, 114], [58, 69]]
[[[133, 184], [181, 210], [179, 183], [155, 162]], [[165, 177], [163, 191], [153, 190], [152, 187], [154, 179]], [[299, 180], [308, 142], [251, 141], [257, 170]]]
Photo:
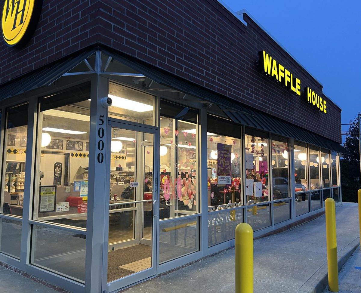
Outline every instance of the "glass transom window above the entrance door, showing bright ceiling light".
[[155, 97], [116, 83], [109, 83], [112, 106], [108, 116], [126, 121], [155, 125]]

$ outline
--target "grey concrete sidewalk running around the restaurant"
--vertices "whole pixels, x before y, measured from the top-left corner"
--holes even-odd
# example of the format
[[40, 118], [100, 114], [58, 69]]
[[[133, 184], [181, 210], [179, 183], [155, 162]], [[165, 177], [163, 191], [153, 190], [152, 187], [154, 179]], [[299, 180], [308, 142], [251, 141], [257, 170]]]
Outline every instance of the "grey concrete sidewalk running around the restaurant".
[[[337, 207], [336, 221], [341, 268], [360, 243], [357, 204]], [[254, 292], [321, 293], [327, 286], [325, 230], [323, 215], [286, 232], [255, 240]], [[119, 292], [234, 292], [234, 255], [231, 248]], [[340, 293], [361, 292], [361, 270], [355, 269], [361, 267], [361, 259], [354, 256], [340, 272]], [[0, 263], [0, 292], [66, 291]]]

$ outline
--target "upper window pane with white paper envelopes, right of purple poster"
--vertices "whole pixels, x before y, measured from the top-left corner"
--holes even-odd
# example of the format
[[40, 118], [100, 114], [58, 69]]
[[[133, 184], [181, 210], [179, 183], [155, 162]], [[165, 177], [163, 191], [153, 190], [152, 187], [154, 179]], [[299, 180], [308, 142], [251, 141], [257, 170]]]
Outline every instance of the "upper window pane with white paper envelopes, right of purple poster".
[[[246, 130], [244, 161], [247, 204], [270, 200], [267, 134], [256, 130]], [[273, 194], [273, 196], [281, 198], [279, 194]]]

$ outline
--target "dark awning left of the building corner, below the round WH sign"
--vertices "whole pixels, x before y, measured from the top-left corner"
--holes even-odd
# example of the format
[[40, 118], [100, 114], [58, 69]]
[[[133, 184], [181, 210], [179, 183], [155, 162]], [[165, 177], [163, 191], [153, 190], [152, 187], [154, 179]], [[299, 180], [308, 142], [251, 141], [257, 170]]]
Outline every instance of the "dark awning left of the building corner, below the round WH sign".
[[97, 49], [90, 49], [76, 56], [67, 56], [1, 85], [0, 101], [31, 89], [48, 86], [96, 51]]

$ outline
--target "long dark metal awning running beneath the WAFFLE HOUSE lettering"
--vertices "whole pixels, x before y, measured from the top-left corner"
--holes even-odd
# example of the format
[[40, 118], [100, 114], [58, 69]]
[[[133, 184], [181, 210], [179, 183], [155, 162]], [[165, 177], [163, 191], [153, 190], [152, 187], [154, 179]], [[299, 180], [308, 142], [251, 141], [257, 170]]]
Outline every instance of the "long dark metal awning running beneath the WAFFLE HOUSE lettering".
[[169, 73], [164, 73], [155, 67], [143, 64], [138, 60], [130, 60], [116, 52], [103, 50], [103, 53], [109, 54], [114, 59], [122, 62], [126, 66], [144, 74], [148, 78], [159, 84], [177, 89], [178, 91], [188, 93], [200, 99], [212, 102], [220, 106], [228, 117], [239, 124], [257, 128], [260, 130], [270, 131], [274, 134], [292, 137], [293, 139], [313, 144], [318, 147], [334, 150], [340, 153], [349, 153], [342, 145], [321, 135], [305, 130], [295, 124], [286, 122], [282, 119], [273, 117], [264, 112], [254, 110], [247, 105], [236, 104], [227, 97], [223, 97], [205, 88], [190, 84], [183, 79], [177, 78]]

